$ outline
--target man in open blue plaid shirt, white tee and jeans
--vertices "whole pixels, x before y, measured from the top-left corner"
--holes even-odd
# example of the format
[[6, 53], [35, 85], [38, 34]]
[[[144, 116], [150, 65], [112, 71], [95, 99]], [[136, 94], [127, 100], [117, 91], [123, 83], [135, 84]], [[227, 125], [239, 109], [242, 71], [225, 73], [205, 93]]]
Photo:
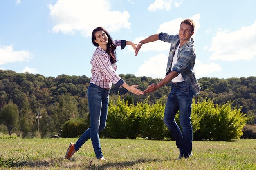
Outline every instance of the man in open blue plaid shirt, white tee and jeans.
[[[171, 43], [166, 69], [166, 77], [158, 83], [153, 83], [145, 93], [150, 93], [171, 81], [171, 92], [168, 95], [164, 110], [164, 124], [168, 127], [180, 150], [178, 159], [192, 156], [193, 131], [191, 126], [191, 106], [193, 95], [200, 93], [201, 87], [195, 78], [195, 46], [191, 36], [194, 34], [195, 23], [186, 19], [181, 22], [178, 35], [158, 33], [141, 40], [137, 45], [137, 53], [141, 46], [148, 42], [161, 40]], [[175, 121], [177, 111], [180, 111], [180, 127]]]

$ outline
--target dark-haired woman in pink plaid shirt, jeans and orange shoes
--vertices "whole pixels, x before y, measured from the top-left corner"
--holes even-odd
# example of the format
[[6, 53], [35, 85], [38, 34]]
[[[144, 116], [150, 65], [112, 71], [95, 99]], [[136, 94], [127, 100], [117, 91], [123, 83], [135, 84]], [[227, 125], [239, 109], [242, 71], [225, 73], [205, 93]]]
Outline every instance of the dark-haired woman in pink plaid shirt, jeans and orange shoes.
[[138, 85], [129, 86], [115, 72], [117, 69], [116, 47], [121, 46], [124, 49], [126, 45], [131, 45], [136, 51], [136, 44], [131, 41], [115, 40], [113, 41], [108, 32], [102, 27], [97, 27], [92, 31], [92, 43], [96, 46], [91, 59], [92, 77], [87, 91], [90, 128], [76, 141], [72, 142], [67, 150], [65, 159], [69, 159], [81, 146], [91, 138], [97, 159], [105, 160], [101, 152], [99, 132], [105, 129], [108, 114], [108, 95], [112, 83], [118, 88], [126, 88], [128, 91], [141, 95], [142, 91], [137, 89]]

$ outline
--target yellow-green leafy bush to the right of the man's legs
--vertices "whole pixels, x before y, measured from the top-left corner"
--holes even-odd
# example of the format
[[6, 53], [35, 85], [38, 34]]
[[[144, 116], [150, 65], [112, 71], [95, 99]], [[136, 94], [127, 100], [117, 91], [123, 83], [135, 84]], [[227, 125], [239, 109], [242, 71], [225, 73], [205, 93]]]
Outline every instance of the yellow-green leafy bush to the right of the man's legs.
[[215, 106], [211, 99], [205, 99], [195, 105], [192, 114], [200, 118], [200, 129], [195, 131], [194, 140], [238, 139], [243, 135], [242, 129], [248, 120], [241, 108], [233, 108], [230, 101]]

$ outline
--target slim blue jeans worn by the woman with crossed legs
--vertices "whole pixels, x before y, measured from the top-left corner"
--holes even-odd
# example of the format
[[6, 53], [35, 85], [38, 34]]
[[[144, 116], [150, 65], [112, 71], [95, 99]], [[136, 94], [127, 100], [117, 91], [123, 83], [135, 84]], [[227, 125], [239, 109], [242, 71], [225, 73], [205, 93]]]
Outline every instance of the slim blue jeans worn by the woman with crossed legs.
[[79, 148], [91, 138], [92, 146], [97, 159], [104, 157], [101, 152], [101, 144], [99, 141], [99, 132], [105, 129], [108, 115], [108, 95], [110, 89], [101, 88], [91, 83], [87, 90], [87, 98], [90, 113], [90, 128], [85, 130], [83, 135], [79, 137], [75, 144], [75, 150]]

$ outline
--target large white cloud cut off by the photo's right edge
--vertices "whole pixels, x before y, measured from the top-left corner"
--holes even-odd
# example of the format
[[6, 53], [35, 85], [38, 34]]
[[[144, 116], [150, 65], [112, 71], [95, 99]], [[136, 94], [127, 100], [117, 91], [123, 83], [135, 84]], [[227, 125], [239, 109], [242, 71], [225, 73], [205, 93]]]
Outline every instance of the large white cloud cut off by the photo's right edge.
[[242, 27], [238, 31], [219, 31], [212, 39], [210, 51], [213, 51], [210, 59], [235, 61], [239, 59], [249, 60], [256, 55], [256, 22], [248, 27]]

